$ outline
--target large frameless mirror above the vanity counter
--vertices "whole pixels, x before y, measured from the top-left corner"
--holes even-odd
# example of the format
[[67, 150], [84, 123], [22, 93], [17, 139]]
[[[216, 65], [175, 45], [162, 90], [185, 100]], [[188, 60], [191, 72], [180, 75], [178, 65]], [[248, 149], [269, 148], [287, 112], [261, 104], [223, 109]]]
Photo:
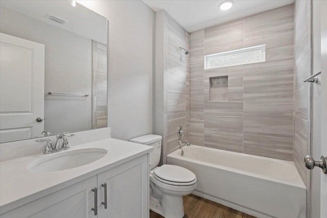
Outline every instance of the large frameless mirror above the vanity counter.
[[107, 127], [107, 19], [67, 0], [0, 9], [0, 142]]

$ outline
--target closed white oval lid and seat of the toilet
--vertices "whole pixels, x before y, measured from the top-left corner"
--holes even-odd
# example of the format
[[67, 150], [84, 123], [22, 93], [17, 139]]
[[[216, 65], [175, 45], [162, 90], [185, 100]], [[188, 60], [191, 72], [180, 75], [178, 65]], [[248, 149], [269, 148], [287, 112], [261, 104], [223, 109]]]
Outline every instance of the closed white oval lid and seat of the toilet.
[[153, 176], [160, 182], [177, 185], [189, 186], [196, 183], [196, 176], [193, 172], [181, 166], [164, 164], [153, 171]]

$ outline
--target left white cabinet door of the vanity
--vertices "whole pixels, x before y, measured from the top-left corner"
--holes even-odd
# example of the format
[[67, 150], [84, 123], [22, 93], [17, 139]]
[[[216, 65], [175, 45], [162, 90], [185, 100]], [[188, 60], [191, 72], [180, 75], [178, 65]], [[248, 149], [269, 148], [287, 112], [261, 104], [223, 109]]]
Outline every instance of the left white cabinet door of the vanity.
[[1, 218], [94, 218], [94, 192], [97, 176], [63, 188], [48, 196], [8, 211]]

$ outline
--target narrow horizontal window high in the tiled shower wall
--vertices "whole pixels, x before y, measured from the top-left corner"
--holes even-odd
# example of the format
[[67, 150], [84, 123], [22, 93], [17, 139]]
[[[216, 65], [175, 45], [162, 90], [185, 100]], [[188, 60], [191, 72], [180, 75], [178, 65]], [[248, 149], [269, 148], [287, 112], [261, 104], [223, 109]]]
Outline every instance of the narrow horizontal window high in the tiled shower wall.
[[266, 44], [204, 56], [205, 69], [266, 61]]

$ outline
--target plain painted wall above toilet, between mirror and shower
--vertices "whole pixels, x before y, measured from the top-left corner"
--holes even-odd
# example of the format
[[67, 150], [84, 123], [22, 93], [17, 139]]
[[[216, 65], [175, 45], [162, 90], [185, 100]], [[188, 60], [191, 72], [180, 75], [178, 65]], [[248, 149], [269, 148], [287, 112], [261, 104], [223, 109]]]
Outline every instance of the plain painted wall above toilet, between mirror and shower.
[[142, 1], [78, 1], [109, 20], [108, 127], [128, 140], [153, 132], [155, 12]]

